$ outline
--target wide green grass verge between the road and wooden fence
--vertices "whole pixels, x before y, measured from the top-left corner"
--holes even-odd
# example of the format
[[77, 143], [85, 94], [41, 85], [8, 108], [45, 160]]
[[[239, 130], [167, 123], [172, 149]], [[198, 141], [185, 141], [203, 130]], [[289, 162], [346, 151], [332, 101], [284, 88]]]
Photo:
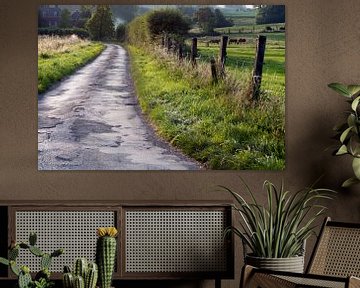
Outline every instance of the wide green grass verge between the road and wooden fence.
[[208, 169], [284, 169], [283, 98], [244, 105], [228, 83], [202, 80], [206, 66], [191, 73], [186, 63], [143, 48], [129, 52], [141, 108], [161, 137]]

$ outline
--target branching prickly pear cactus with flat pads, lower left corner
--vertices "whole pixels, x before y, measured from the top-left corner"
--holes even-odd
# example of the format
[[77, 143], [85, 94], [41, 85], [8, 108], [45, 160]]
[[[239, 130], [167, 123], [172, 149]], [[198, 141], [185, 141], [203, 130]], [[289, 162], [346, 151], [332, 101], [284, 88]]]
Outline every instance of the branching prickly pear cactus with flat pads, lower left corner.
[[[0, 257], [0, 263], [10, 266], [11, 271], [18, 277], [18, 287], [19, 288], [49, 288], [54, 285], [50, 280], [50, 265], [52, 258], [58, 257], [64, 253], [63, 249], [57, 249], [51, 254], [45, 253], [36, 246], [37, 236], [35, 233], [30, 233], [29, 244], [20, 242], [12, 243], [9, 252], [8, 259]], [[40, 257], [40, 267], [41, 270], [35, 275], [33, 280], [30, 275], [30, 269], [28, 266], [24, 265], [19, 267], [16, 263], [16, 259], [19, 256], [20, 249], [26, 249], [31, 254]]]

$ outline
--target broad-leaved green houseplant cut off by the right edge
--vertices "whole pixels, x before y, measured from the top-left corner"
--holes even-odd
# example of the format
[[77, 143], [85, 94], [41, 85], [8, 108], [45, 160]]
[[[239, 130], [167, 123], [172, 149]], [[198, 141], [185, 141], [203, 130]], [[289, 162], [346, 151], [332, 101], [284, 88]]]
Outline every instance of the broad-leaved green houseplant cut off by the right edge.
[[349, 154], [353, 157], [352, 168], [355, 177], [347, 179], [342, 184], [343, 187], [348, 187], [360, 183], [360, 85], [331, 83], [328, 86], [346, 97], [351, 106], [347, 121], [334, 128], [340, 140], [340, 147], [336, 149], [334, 154]]

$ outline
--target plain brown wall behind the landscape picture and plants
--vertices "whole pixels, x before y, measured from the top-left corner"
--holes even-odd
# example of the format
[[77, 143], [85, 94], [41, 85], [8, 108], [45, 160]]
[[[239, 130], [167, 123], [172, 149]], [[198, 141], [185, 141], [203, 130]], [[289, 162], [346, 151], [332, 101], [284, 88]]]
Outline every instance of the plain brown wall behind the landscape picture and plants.
[[[74, 4], [73, 1], [50, 2]], [[147, 3], [156, 4], [156, 1]], [[181, 3], [193, 4], [190, 1]], [[226, 3], [231, 1], [221, 1], [221, 4]], [[256, 3], [286, 4], [285, 171], [39, 172], [36, 28], [40, 1], [1, 0], [0, 199], [229, 199], [214, 186], [237, 188], [241, 175], [264, 201], [261, 186], [265, 179], [276, 184], [283, 179], [288, 189], [297, 190], [323, 174], [320, 185], [339, 191], [337, 200], [329, 204], [328, 214], [337, 220], [359, 222], [359, 186], [349, 190], [339, 188], [351, 173], [349, 159], [334, 158], [326, 148], [334, 143], [330, 139], [332, 127], [343, 118], [346, 107], [343, 98], [330, 91], [327, 84], [359, 83], [360, 80], [360, 3], [358, 0], [243, 1], [243, 4]], [[131, 4], [135, 3], [131, 1]], [[311, 251], [312, 242], [308, 246]], [[239, 245], [237, 248], [241, 250]], [[236, 257], [239, 271], [240, 252]], [[224, 286], [237, 287], [238, 281], [239, 273], [235, 281], [226, 281]]]

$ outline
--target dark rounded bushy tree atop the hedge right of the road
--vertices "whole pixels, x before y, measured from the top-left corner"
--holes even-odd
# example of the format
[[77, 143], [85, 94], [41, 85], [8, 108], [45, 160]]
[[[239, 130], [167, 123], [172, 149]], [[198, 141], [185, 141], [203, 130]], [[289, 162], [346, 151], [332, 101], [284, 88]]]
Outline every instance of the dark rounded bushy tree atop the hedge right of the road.
[[151, 38], [162, 34], [183, 36], [190, 29], [188, 22], [176, 9], [151, 11], [147, 22]]

